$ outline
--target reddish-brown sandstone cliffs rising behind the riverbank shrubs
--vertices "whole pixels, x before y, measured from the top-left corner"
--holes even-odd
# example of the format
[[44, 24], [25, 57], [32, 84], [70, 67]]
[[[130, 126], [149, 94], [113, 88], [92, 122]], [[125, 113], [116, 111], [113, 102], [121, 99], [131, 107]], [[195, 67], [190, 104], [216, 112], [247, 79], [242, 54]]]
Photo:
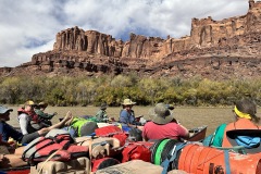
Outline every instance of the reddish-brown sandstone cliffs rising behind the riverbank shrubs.
[[246, 15], [214, 21], [192, 18], [179, 39], [130, 34], [128, 41], [77, 26], [57, 34], [53, 50], [34, 54], [0, 75], [100, 75], [138, 72], [148, 76], [195, 75], [212, 79], [261, 75], [261, 2], [249, 0]]

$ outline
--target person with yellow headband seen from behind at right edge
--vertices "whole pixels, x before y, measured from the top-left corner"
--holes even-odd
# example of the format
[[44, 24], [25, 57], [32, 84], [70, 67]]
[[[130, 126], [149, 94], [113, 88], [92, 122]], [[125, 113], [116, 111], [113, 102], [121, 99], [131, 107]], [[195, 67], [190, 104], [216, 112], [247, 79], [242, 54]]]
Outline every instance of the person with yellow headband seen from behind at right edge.
[[[250, 101], [249, 99], [241, 99], [236, 102], [234, 107], [234, 115], [235, 122], [229, 124], [222, 124], [220, 125], [213, 135], [210, 135], [210, 142], [207, 146], [214, 146], [214, 147], [233, 147], [227, 137], [227, 133], [233, 130], [239, 132], [244, 129], [244, 132], [249, 130], [259, 130], [261, 129], [260, 117], [256, 115], [257, 113], [257, 105], [254, 102]], [[236, 136], [236, 135], [235, 135]], [[251, 137], [245, 136], [244, 138], [236, 139], [237, 146], [244, 146], [248, 149], [259, 146], [261, 142], [260, 137]], [[204, 141], [203, 141], [204, 142]]]

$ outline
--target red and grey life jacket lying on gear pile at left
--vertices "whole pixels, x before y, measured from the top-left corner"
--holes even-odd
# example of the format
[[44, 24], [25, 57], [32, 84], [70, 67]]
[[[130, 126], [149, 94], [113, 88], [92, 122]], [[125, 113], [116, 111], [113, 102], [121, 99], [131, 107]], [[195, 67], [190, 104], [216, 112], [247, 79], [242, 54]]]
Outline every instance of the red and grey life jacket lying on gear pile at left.
[[50, 159], [51, 161], [70, 161], [86, 157], [89, 147], [77, 146], [66, 130], [51, 129], [45, 137], [30, 141], [22, 154], [22, 159], [29, 165]]

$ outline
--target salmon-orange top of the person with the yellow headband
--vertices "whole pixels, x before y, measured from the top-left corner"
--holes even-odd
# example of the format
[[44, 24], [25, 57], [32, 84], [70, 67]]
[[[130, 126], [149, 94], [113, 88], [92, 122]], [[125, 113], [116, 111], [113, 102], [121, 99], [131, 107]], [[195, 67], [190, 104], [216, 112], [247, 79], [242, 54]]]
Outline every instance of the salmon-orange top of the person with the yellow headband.
[[233, 130], [233, 129], [260, 129], [260, 127], [254, 125], [248, 119], [238, 119], [238, 121], [229, 123], [226, 126], [224, 132], [222, 147], [233, 147], [233, 145], [229, 142], [228, 137], [226, 135], [226, 132]]

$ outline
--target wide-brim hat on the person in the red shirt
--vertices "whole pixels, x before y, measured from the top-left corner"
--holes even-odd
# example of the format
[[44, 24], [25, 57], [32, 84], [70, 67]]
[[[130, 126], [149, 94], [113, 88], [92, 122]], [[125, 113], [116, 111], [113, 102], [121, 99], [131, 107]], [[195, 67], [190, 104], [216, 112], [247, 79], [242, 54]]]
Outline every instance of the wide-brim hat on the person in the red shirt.
[[151, 109], [149, 111], [149, 116], [151, 121], [157, 124], [166, 124], [174, 119], [172, 112], [164, 103], [158, 103], [154, 109]]

